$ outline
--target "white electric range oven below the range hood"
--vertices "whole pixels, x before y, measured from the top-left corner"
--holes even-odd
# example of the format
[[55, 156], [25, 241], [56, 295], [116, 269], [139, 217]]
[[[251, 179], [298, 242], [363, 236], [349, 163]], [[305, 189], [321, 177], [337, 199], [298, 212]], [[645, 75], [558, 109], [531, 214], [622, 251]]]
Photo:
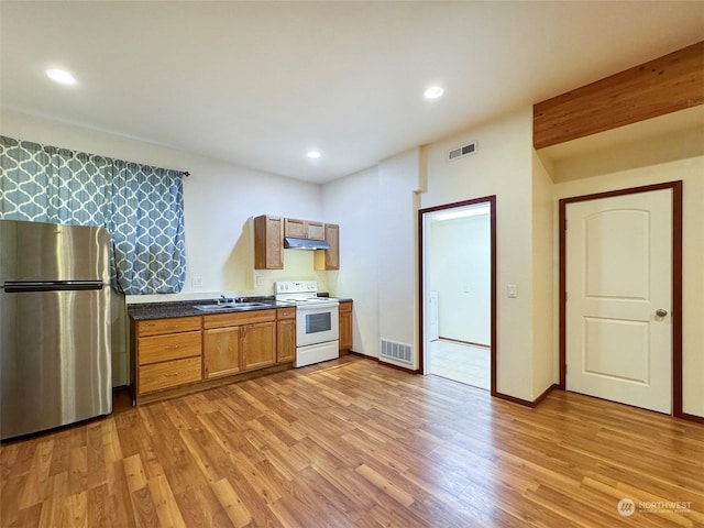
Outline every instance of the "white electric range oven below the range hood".
[[318, 297], [315, 280], [277, 282], [276, 300], [296, 306], [295, 367], [340, 356], [339, 306], [330, 297]]

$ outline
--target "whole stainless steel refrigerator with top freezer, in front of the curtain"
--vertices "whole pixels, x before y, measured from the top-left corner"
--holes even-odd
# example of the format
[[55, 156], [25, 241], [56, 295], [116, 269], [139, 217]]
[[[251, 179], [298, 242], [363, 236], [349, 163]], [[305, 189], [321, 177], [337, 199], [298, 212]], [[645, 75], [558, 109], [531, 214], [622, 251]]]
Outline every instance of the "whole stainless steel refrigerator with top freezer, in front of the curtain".
[[112, 411], [109, 244], [0, 220], [0, 439]]

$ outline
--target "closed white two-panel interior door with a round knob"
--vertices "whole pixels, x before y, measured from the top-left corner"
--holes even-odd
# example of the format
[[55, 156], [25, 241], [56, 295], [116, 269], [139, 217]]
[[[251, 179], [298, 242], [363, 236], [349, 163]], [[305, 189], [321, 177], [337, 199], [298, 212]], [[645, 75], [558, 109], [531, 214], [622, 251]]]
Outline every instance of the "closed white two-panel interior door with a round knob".
[[566, 206], [566, 388], [672, 407], [672, 190]]

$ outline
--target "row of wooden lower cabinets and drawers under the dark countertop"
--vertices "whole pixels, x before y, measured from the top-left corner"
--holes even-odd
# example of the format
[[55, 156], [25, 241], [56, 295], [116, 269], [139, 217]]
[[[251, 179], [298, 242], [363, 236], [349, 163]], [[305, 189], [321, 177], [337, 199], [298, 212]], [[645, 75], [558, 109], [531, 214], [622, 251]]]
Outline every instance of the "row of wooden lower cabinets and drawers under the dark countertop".
[[237, 381], [278, 364], [285, 370], [296, 359], [295, 307], [132, 319], [131, 324], [138, 402], [228, 383], [218, 381], [228, 376]]

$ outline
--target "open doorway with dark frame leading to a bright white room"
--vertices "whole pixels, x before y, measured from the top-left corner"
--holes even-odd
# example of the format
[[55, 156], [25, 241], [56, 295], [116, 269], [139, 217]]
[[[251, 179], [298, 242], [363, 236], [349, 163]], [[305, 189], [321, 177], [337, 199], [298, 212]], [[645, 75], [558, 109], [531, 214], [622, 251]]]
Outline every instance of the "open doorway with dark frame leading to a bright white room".
[[419, 211], [424, 374], [496, 391], [495, 197]]

